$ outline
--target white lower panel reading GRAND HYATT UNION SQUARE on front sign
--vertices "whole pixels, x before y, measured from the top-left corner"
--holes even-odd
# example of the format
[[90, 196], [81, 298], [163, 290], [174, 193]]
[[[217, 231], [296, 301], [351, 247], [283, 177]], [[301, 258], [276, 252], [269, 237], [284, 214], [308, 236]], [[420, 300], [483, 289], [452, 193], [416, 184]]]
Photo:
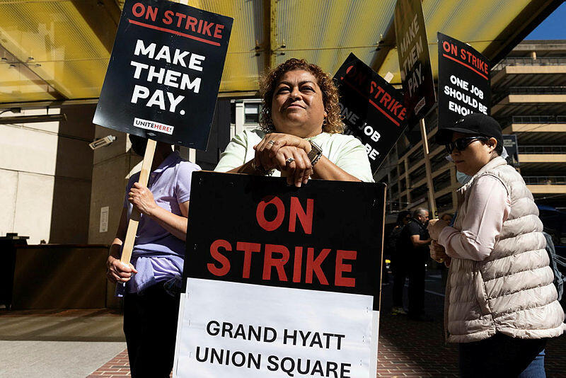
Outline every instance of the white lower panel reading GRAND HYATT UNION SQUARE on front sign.
[[369, 295], [188, 278], [173, 377], [375, 377], [372, 304]]

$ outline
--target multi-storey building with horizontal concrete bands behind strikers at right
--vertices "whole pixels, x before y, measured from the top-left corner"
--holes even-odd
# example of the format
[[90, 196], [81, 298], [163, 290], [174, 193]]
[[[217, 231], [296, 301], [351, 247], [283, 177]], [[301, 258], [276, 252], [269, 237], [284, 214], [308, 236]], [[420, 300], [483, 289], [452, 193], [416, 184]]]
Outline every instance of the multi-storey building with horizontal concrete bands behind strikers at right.
[[[515, 134], [519, 170], [537, 204], [566, 208], [566, 40], [523, 41], [492, 67], [491, 115]], [[434, 143], [437, 115], [425, 120], [439, 214], [456, 210], [454, 164]], [[418, 134], [418, 130], [417, 134]], [[388, 183], [388, 212], [429, 207], [420, 134], [402, 137], [376, 180]], [[418, 142], [417, 142], [418, 141]]]

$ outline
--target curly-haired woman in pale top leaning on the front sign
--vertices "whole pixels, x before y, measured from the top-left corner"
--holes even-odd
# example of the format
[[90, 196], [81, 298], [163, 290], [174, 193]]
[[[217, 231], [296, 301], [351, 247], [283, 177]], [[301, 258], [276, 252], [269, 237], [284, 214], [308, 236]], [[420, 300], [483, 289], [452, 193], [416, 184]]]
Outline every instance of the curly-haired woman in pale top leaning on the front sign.
[[373, 182], [364, 146], [344, 135], [338, 91], [330, 75], [304, 59], [289, 59], [260, 82], [261, 129], [236, 135], [214, 171]]

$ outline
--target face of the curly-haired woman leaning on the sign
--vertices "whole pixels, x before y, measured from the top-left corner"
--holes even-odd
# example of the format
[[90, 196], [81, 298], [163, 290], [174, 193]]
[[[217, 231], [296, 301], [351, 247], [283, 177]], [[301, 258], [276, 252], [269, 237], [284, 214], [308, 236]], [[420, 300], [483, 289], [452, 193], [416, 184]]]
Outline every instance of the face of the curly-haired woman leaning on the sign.
[[275, 86], [271, 118], [277, 132], [312, 137], [322, 132], [323, 94], [316, 78], [308, 71], [286, 72]]

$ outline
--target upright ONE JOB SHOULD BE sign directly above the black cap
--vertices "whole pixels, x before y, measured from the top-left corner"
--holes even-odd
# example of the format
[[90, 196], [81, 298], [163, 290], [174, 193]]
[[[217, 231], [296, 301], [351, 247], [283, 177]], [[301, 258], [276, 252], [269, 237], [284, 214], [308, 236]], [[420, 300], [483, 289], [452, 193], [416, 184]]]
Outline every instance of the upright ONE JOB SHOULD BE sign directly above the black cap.
[[464, 115], [490, 115], [490, 62], [470, 45], [438, 33], [438, 125]]

